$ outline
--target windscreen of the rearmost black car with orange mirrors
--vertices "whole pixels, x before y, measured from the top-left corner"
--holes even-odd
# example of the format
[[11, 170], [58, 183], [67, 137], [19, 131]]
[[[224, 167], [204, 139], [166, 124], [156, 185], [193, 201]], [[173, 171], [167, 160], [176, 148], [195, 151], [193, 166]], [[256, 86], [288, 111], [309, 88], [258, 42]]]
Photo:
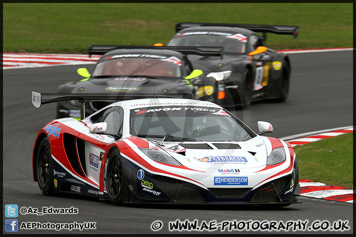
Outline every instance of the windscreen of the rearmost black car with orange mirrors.
[[247, 37], [223, 32], [184, 32], [168, 42], [169, 46], [215, 46], [224, 52], [245, 53]]

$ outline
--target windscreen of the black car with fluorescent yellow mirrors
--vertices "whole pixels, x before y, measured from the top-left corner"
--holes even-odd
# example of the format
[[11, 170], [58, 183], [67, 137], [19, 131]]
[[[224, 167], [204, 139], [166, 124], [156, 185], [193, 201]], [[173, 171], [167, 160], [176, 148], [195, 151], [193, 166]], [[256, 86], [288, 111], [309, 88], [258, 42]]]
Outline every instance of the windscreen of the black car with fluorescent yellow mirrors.
[[94, 69], [92, 77], [128, 75], [181, 77], [180, 66], [181, 60], [177, 57], [118, 54], [107, 56], [99, 62]]

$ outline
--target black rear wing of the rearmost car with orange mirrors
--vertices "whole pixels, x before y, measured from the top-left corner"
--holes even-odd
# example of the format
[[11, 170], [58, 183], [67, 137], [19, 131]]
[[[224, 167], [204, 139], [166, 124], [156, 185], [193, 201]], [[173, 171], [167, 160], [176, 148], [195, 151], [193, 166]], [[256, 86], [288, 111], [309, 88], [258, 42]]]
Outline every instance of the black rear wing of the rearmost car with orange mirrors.
[[228, 24], [228, 23], [193, 23], [193, 22], [181, 22], [176, 24], [176, 32], [194, 26], [239, 27], [254, 32], [264, 33], [264, 34], [274, 33], [278, 35], [293, 35], [294, 38], [297, 38], [299, 34], [299, 26], [251, 25], [251, 24]]

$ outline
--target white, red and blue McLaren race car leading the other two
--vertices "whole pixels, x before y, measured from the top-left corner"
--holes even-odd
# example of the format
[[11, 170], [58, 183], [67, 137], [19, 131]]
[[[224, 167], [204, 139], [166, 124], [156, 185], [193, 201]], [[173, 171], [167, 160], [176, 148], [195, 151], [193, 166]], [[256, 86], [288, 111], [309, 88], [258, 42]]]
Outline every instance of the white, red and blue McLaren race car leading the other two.
[[[32, 102], [39, 108], [92, 96], [33, 92]], [[66, 193], [113, 204], [300, 203], [293, 147], [261, 136], [273, 131], [270, 123], [258, 125], [260, 135], [209, 101], [119, 101], [82, 120], [45, 124], [34, 144], [33, 179], [44, 195]]]

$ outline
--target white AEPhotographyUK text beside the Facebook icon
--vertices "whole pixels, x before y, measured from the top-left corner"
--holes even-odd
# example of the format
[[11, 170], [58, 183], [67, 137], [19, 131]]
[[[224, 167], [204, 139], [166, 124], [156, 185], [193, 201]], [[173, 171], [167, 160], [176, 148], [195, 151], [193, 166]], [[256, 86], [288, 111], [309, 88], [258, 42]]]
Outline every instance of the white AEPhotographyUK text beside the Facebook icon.
[[96, 222], [83, 222], [83, 223], [40, 223], [40, 222], [22, 222], [20, 225], [21, 230], [95, 230]]

